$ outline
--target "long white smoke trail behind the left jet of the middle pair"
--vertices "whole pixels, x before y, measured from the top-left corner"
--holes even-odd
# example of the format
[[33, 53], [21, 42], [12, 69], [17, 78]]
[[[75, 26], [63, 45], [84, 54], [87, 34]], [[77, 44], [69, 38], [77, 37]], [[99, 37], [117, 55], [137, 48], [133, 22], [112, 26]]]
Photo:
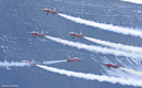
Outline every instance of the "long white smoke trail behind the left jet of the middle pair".
[[67, 40], [61, 40], [58, 37], [52, 37], [52, 36], [45, 36], [54, 42], [67, 44], [72, 47], [78, 47], [78, 48], [83, 48], [90, 52], [95, 52], [95, 53], [103, 53], [103, 54], [113, 54], [115, 56], [126, 56], [126, 57], [132, 57], [132, 58], [141, 58], [142, 54], [134, 54], [134, 53], [125, 53], [122, 51], [116, 51], [116, 50], [111, 50], [106, 47], [100, 47], [100, 46], [94, 46], [94, 45], [87, 45], [82, 43], [77, 43], [77, 42], [71, 42]]

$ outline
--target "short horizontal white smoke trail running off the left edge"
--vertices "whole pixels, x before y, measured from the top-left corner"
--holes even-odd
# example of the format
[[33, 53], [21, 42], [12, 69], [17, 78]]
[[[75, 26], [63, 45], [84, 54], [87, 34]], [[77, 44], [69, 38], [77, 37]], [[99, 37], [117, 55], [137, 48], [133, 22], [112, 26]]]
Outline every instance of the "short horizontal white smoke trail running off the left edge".
[[0, 67], [11, 67], [11, 66], [17, 66], [17, 67], [23, 67], [23, 66], [29, 66], [29, 64], [26, 63], [19, 63], [19, 62], [0, 62]]

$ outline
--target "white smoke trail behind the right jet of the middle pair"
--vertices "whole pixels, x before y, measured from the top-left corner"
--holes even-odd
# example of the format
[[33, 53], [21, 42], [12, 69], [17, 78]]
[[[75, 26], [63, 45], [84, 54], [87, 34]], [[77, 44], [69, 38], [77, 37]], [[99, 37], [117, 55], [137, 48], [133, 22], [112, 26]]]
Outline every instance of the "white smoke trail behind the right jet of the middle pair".
[[115, 44], [115, 43], [111, 43], [111, 42], [108, 42], [108, 41], [101, 41], [101, 40], [87, 37], [87, 36], [84, 36], [84, 38], [87, 38], [91, 42], [94, 42], [94, 43], [98, 43], [98, 44], [101, 44], [101, 45], [105, 45], [105, 46], [109, 46], [109, 47], [113, 47], [113, 48], [116, 48], [116, 50], [121, 50], [121, 51], [142, 53], [142, 47], [122, 45], [120, 43]]

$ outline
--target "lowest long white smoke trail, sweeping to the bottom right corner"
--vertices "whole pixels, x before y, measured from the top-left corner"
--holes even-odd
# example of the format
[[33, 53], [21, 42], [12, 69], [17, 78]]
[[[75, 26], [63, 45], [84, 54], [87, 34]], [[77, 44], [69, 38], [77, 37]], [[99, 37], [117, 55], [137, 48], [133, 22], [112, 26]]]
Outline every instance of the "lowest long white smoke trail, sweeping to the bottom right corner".
[[98, 81], [109, 81], [111, 84], [121, 84], [121, 85], [129, 85], [129, 86], [139, 86], [142, 87], [142, 81], [141, 80], [134, 80], [134, 79], [123, 79], [123, 78], [116, 78], [116, 77], [109, 77], [109, 76], [99, 76], [94, 74], [84, 74], [84, 73], [77, 73], [77, 72], [71, 72], [71, 70], [65, 70], [65, 69], [59, 69], [59, 68], [53, 68], [53, 67], [48, 67], [48, 66], [42, 66], [42, 65], [37, 65], [40, 68], [47, 69], [52, 73], [58, 73], [61, 75], [65, 75], [69, 77], [78, 77], [78, 78], [83, 78], [87, 80], [98, 80]]

